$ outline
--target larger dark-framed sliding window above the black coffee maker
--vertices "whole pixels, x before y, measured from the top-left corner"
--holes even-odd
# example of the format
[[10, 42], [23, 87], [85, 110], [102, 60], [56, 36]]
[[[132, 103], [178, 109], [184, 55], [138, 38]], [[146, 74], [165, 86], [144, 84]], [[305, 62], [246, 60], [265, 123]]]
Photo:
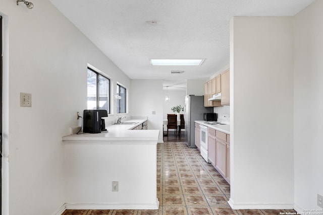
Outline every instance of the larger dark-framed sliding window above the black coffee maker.
[[110, 79], [87, 68], [87, 109], [110, 113]]

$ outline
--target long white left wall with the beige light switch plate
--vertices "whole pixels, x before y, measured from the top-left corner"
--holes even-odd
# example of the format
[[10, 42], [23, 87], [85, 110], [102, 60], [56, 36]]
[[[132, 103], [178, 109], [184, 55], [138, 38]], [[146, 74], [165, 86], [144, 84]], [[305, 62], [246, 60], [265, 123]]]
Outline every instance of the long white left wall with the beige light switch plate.
[[[65, 203], [61, 137], [69, 134], [70, 126], [80, 124], [76, 112], [86, 109], [87, 63], [106, 71], [113, 82], [130, 84], [48, 1], [32, 2], [32, 10], [15, 1], [0, 2], [8, 29], [5, 46], [9, 47], [4, 53], [3, 114], [9, 126], [4, 148], [10, 156], [5, 215], [8, 198], [10, 214], [53, 214]], [[31, 108], [20, 107], [20, 92], [32, 94]], [[8, 158], [4, 159], [7, 166]]]

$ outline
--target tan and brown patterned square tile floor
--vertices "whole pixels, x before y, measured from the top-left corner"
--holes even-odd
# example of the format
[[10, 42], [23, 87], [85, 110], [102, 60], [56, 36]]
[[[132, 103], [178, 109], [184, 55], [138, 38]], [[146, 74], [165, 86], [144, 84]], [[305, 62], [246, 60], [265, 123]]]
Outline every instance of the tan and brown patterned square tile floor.
[[[139, 214], [280, 214], [294, 210], [232, 210], [230, 185], [184, 142], [157, 145], [158, 210], [66, 210], [63, 215]], [[285, 213], [286, 214], [286, 213]]]

